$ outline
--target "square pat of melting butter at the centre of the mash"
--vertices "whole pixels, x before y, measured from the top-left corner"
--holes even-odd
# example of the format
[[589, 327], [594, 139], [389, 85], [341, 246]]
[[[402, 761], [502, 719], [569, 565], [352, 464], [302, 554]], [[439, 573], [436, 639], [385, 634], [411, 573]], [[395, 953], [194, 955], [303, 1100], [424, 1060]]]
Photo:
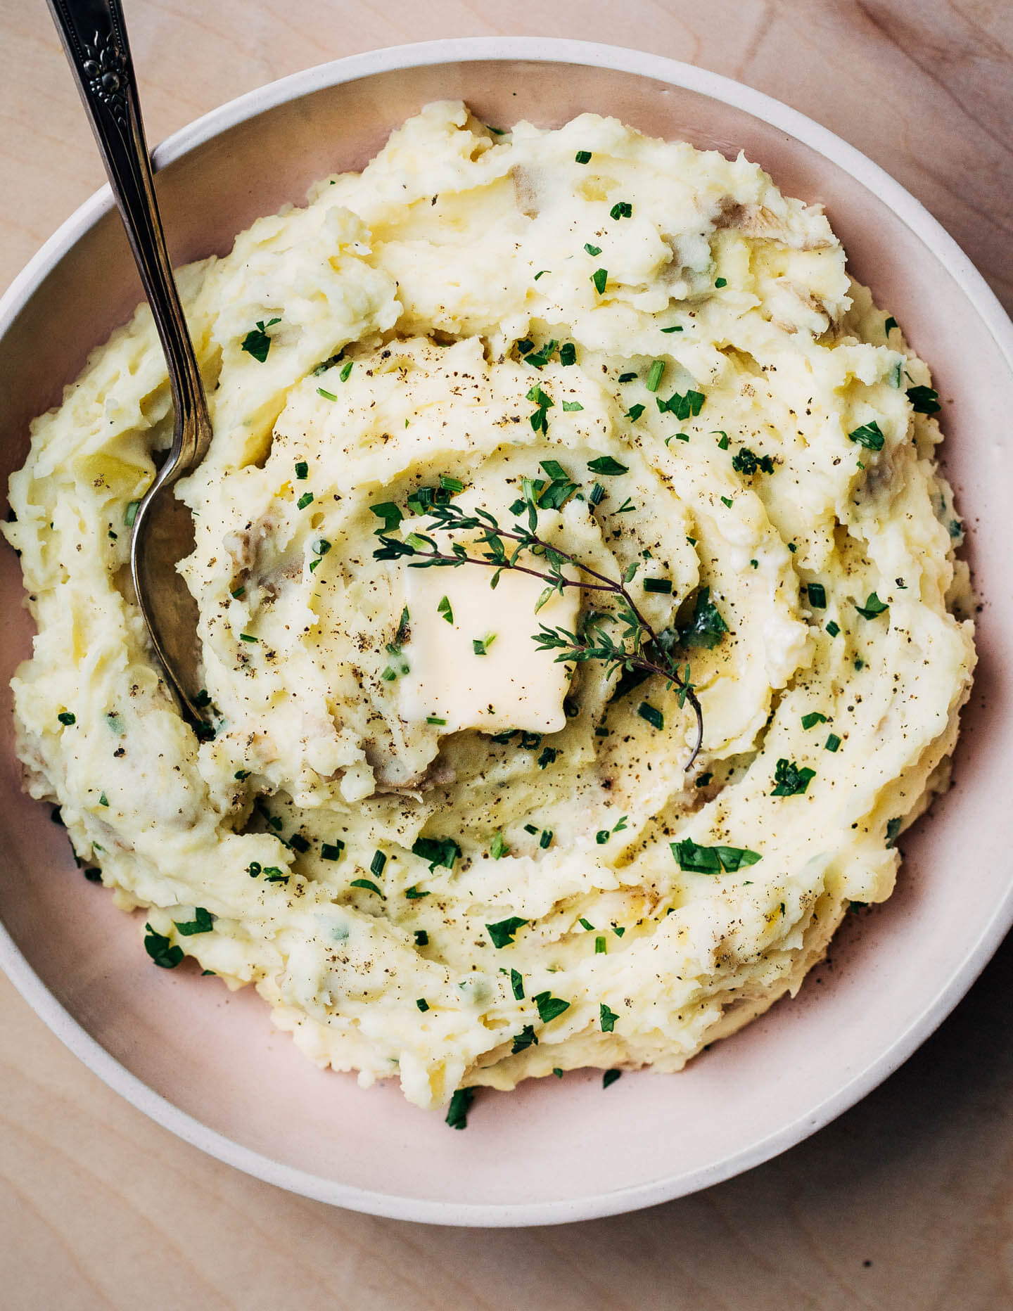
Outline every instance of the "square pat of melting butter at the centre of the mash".
[[[401, 717], [446, 720], [438, 725], [446, 733], [558, 733], [570, 674], [554, 652], [537, 649], [532, 633], [540, 624], [574, 632], [581, 589], [564, 589], [536, 615], [540, 578], [505, 569], [491, 590], [491, 576], [480, 565], [405, 569], [411, 636], [404, 648], [409, 673], [398, 679]], [[444, 597], [452, 621], [440, 612]], [[485, 654], [476, 653], [476, 641]]]

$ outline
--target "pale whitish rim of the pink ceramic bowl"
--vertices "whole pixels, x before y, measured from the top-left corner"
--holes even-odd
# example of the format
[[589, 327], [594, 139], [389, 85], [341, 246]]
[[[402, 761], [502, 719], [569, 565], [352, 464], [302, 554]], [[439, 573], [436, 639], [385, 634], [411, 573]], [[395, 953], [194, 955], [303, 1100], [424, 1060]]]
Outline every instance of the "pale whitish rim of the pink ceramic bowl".
[[[740, 109], [809, 146], [878, 194], [932, 250], [967, 296], [1013, 371], [1013, 323], [984, 277], [920, 201], [861, 151], [798, 110], [721, 73], [662, 55], [548, 37], [453, 37], [387, 46], [291, 73], [211, 110], [153, 149], [155, 168], [157, 170], [173, 163], [265, 110], [329, 87], [377, 73], [432, 64], [511, 60], [582, 64], [651, 77]], [[0, 338], [58, 261], [111, 207], [110, 189], [104, 186], [75, 210], [14, 277], [0, 296]], [[113, 1058], [48, 991], [3, 923], [0, 923], [0, 968], [39, 1019], [93, 1074], [156, 1124], [210, 1156], [288, 1192], [371, 1215], [431, 1224], [514, 1227], [596, 1219], [654, 1206], [709, 1188], [793, 1147], [853, 1106], [907, 1061], [970, 988], [1010, 926], [1013, 926], [1013, 888], [982, 927], [978, 940], [961, 966], [927, 999], [919, 1019], [890, 1047], [858, 1071], [833, 1096], [826, 1097], [806, 1114], [748, 1148], [735, 1151], [687, 1175], [604, 1190], [582, 1198], [524, 1203], [472, 1203], [398, 1197], [341, 1184], [273, 1160], [203, 1125]]]

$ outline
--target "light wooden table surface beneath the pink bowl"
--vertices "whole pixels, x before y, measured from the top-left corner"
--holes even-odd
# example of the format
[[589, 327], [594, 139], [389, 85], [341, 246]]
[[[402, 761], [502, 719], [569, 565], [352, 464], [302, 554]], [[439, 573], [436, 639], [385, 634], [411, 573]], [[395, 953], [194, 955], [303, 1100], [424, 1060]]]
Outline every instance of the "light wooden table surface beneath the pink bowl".
[[[432, 37], [582, 37], [697, 63], [882, 164], [1013, 308], [1010, 0], [127, 9], [152, 142], [296, 69]], [[104, 177], [43, 0], [0, 0], [0, 54], [1, 287]], [[206, 1158], [0, 977], [0, 1311], [1013, 1307], [1010, 991], [1008, 940], [898, 1074], [747, 1175], [633, 1215], [476, 1232], [333, 1210]]]

